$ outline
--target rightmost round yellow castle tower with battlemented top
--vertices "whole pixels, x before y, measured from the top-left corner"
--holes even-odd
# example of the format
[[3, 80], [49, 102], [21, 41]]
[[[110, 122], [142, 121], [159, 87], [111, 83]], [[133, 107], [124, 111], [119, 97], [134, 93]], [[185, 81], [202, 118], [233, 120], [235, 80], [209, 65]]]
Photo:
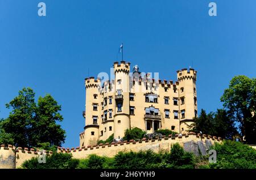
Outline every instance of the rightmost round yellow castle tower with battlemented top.
[[193, 68], [184, 68], [177, 71], [177, 79], [180, 132], [185, 133], [188, 126], [193, 123], [193, 118], [197, 117], [196, 71]]

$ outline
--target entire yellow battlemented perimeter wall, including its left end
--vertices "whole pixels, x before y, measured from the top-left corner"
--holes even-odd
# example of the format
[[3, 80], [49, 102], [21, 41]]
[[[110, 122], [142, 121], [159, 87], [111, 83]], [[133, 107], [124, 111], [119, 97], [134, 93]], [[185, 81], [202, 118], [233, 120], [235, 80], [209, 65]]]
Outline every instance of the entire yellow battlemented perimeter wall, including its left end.
[[[170, 151], [172, 144], [179, 143], [185, 151], [193, 152], [195, 155], [207, 153], [210, 145], [216, 142], [222, 142], [221, 138], [216, 136], [200, 135], [190, 132], [189, 134], [183, 134], [182, 136], [163, 136], [161, 139], [143, 138], [138, 141], [130, 140], [130, 142], [118, 142], [118, 143], [106, 143], [95, 145], [91, 147], [77, 147], [77, 148], [57, 148], [59, 153], [71, 153], [73, 158], [86, 158], [90, 154], [96, 154], [98, 156], [113, 157], [118, 152], [129, 151], [146, 151], [151, 149], [154, 152]], [[32, 157], [38, 157], [38, 151], [28, 148], [15, 148], [13, 145], [1, 145], [0, 148], [0, 169], [14, 169], [19, 168], [26, 160], [30, 160]], [[51, 155], [52, 152], [47, 152], [47, 155]]]

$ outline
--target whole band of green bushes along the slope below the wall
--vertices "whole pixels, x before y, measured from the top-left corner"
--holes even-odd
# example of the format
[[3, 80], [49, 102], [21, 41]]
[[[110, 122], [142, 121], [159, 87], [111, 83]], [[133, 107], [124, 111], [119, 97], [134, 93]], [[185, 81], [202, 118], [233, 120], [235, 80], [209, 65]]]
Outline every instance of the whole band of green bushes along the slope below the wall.
[[256, 169], [256, 150], [240, 142], [224, 141], [215, 144], [217, 162], [209, 163], [209, 156], [195, 156], [185, 152], [179, 144], [172, 145], [170, 152], [155, 153], [150, 150], [140, 152], [119, 152], [114, 157], [90, 155], [77, 160], [71, 154], [53, 153], [46, 164], [39, 164], [36, 158], [27, 160], [22, 168], [79, 168], [79, 169], [194, 169], [194, 168], [237, 168]]

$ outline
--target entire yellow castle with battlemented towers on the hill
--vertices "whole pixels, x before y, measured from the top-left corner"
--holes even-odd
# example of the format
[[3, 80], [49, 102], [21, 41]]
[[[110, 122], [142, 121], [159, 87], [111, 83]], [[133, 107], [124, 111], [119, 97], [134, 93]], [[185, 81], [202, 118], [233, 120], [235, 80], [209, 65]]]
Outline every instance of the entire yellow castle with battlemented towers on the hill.
[[130, 63], [114, 62], [114, 78], [86, 78], [84, 132], [80, 147], [96, 145], [114, 134], [119, 140], [125, 130], [138, 127], [147, 133], [169, 129], [185, 134], [197, 116], [196, 71], [177, 71], [177, 81], [152, 78], [130, 70]]

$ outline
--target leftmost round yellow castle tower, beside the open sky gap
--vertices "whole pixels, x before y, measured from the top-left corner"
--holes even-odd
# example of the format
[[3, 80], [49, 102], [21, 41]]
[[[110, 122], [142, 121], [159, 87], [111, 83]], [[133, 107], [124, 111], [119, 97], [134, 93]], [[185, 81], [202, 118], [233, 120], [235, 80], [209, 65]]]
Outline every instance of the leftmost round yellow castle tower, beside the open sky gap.
[[94, 77], [85, 79], [86, 100], [85, 100], [85, 127], [84, 127], [84, 143], [81, 145], [96, 145], [98, 141], [98, 128], [99, 128], [99, 114], [93, 108], [99, 108], [100, 93], [100, 79]]

